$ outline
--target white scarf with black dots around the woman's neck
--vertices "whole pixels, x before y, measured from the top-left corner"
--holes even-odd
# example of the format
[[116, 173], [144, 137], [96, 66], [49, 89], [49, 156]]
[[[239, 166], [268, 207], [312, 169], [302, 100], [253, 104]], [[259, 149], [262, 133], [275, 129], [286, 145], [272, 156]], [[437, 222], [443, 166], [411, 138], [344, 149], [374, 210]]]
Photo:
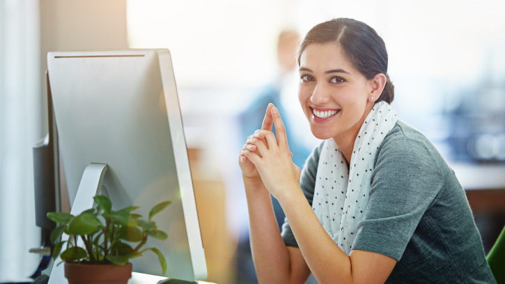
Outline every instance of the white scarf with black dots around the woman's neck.
[[375, 154], [395, 123], [393, 107], [387, 102], [375, 104], [359, 129], [349, 170], [333, 139], [327, 139], [321, 150], [312, 208], [328, 235], [347, 255], [368, 205]]

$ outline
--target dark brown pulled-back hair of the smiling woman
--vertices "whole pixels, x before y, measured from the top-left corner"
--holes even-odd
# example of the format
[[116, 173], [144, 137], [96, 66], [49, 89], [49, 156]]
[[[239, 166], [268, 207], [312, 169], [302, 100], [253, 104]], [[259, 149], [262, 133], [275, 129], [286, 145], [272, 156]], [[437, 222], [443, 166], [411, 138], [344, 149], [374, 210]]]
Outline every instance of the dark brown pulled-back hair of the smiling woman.
[[372, 79], [379, 73], [384, 74], [387, 78], [386, 86], [376, 102], [382, 100], [388, 104], [393, 102], [394, 85], [387, 74], [386, 45], [371, 26], [347, 18], [332, 19], [314, 26], [300, 44], [298, 65], [300, 65], [300, 56], [308, 45], [328, 42], [338, 43], [343, 54], [366, 79]]

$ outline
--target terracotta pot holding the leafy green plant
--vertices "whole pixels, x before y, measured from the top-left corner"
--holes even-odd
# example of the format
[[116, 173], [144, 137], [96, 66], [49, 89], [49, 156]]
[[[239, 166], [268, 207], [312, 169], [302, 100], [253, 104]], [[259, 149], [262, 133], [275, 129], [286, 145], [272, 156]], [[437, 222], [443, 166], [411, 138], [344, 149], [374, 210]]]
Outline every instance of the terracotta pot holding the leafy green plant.
[[132, 277], [132, 264], [84, 265], [65, 262], [68, 284], [127, 284]]

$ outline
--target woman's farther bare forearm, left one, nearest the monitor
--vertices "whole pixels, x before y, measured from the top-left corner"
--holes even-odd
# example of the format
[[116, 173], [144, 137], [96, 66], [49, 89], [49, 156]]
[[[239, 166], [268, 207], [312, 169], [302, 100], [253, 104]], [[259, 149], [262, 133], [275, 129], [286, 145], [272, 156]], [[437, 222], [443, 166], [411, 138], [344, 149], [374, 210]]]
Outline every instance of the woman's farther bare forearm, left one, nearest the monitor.
[[270, 193], [263, 182], [244, 179], [251, 251], [259, 283], [292, 283], [290, 256], [279, 232]]

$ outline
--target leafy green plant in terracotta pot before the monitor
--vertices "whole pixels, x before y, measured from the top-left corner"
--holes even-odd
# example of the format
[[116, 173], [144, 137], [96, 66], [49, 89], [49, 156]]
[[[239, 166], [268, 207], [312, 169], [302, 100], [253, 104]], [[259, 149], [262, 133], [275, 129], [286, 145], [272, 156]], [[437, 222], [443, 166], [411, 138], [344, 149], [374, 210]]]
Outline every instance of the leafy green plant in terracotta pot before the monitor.
[[[153, 216], [171, 202], [164, 201], [155, 205], [146, 221], [141, 219], [141, 215], [133, 213], [139, 207], [129, 206], [114, 211], [107, 196], [95, 196], [94, 200], [96, 207], [77, 216], [63, 212], [47, 214], [47, 218], [61, 224], [51, 234], [51, 242], [55, 244], [52, 256], [54, 260], [60, 256], [62, 262], [65, 262], [65, 277], [68, 282], [76, 283], [73, 278], [77, 278], [77, 281], [81, 281], [79, 283], [93, 283], [90, 277], [104, 275], [109, 278], [105, 282], [97, 283], [127, 283], [132, 276], [132, 264], [129, 260], [146, 251], [157, 255], [165, 273], [166, 261], [162, 253], [157, 248], [143, 246], [148, 237], [167, 238], [165, 232], [157, 229]], [[60, 240], [63, 232], [69, 236], [68, 240]], [[77, 243], [79, 240], [82, 242], [81, 246]], [[66, 246], [62, 251], [63, 245]], [[57, 265], [60, 264], [61, 262]], [[121, 274], [123, 276], [120, 276]], [[116, 280], [111, 277], [123, 280], [114, 282]]]

